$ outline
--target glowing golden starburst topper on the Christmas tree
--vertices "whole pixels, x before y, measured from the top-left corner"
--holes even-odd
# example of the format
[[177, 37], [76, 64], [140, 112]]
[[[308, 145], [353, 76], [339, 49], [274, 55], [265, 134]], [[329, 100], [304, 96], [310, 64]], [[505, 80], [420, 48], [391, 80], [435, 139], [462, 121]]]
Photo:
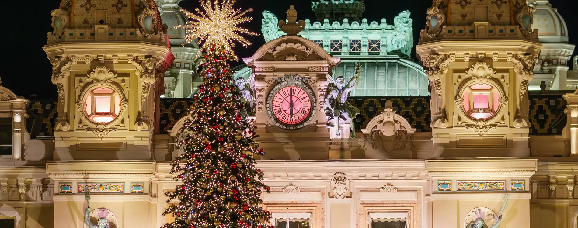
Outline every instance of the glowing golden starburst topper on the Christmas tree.
[[[241, 12], [241, 9], [234, 9], [233, 5], [236, 0], [199, 1], [201, 2], [202, 10], [195, 9], [197, 13], [181, 9], [181, 12], [191, 18], [191, 21], [187, 22], [186, 25], [176, 27], [186, 29], [185, 43], [195, 42], [195, 39], [199, 38], [199, 42], [224, 47], [231, 57], [237, 59], [231, 48], [235, 47], [235, 42], [239, 42], [245, 47], [251, 45], [251, 42], [241, 35], [258, 36], [257, 33], [238, 27], [241, 23], [253, 20], [252, 17], [244, 16], [244, 14], [251, 12], [253, 9], [244, 10], [243, 12]], [[203, 45], [201, 51], [206, 50], [210, 46]]]

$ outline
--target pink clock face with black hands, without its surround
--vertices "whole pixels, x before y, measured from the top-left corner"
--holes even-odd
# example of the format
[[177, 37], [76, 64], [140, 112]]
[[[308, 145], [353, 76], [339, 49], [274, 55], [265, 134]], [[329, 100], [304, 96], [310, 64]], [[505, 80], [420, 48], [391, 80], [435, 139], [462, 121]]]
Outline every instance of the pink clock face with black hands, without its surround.
[[311, 99], [299, 87], [285, 87], [273, 97], [273, 114], [284, 124], [298, 124], [311, 111]]

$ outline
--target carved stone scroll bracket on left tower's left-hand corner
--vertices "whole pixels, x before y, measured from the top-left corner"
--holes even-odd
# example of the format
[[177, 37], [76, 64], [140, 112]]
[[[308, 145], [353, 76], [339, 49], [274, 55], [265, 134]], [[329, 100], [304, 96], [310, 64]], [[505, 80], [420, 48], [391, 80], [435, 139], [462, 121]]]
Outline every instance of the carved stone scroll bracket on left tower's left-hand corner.
[[66, 99], [65, 94], [68, 91], [68, 77], [71, 74], [72, 61], [67, 56], [57, 56], [50, 59], [52, 65], [51, 81], [56, 85], [58, 91], [58, 118], [55, 124], [56, 130], [69, 130], [70, 122], [68, 120], [68, 113], [66, 113]]

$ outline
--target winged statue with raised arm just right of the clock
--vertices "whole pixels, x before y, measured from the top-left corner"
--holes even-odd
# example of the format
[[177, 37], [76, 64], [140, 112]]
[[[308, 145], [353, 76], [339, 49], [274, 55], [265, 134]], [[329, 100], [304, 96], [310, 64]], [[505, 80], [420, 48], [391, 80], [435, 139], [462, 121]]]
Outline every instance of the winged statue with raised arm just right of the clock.
[[[327, 125], [325, 128], [337, 128], [339, 125], [349, 123], [351, 128], [351, 138], [355, 137], [355, 126], [353, 123], [353, 118], [355, 115], [360, 114], [360, 110], [352, 106], [347, 102], [349, 93], [357, 87], [357, 83], [360, 78], [361, 73], [361, 63], [357, 63], [355, 66], [355, 76], [351, 77], [349, 81], [345, 81], [343, 76], [333, 79], [333, 77], [327, 77], [327, 96], [325, 97], [325, 115], [327, 115]], [[338, 130], [338, 135], [339, 135]]]

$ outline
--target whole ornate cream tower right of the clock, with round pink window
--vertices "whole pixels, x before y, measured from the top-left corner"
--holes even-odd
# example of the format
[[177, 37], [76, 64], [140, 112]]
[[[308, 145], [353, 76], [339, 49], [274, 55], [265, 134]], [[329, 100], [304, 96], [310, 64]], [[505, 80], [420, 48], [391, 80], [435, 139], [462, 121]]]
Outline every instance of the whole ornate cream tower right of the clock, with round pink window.
[[542, 48], [532, 18], [523, 0], [428, 9], [417, 54], [432, 93], [432, 156], [529, 156], [528, 82]]

